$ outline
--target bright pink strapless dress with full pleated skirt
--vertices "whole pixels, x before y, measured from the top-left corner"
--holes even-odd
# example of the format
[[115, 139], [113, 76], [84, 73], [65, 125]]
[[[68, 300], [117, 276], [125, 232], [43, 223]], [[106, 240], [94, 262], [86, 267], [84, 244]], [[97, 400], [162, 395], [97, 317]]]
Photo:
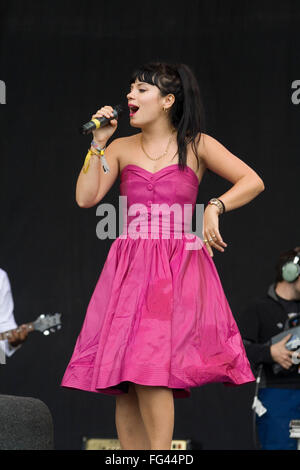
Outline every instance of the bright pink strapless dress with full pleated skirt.
[[[122, 208], [127, 223], [110, 247], [63, 387], [117, 395], [134, 382], [186, 398], [191, 387], [255, 380], [214, 261], [200, 237], [185, 230], [198, 186], [195, 172], [177, 164], [156, 173], [133, 164], [123, 169], [120, 195], [128, 209], [143, 204], [146, 212]], [[152, 204], [163, 203], [190, 204], [190, 218], [178, 223], [171, 216], [166, 229], [163, 217], [150, 214]], [[151, 226], [159, 228], [157, 238]], [[197, 249], [187, 248], [191, 241]]]

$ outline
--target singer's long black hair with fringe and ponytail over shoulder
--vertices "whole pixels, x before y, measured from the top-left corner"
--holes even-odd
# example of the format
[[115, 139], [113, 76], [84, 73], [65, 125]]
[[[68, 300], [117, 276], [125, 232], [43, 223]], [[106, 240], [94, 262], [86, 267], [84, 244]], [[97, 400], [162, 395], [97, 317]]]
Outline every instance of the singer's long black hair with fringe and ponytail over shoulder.
[[183, 169], [186, 166], [187, 144], [192, 142], [197, 168], [199, 168], [201, 157], [198, 154], [197, 145], [204, 127], [205, 111], [199, 85], [191, 68], [185, 64], [150, 62], [133, 72], [130, 84], [136, 79], [156, 85], [161, 96], [169, 93], [175, 96], [169, 116], [171, 124], [177, 130], [179, 167]]

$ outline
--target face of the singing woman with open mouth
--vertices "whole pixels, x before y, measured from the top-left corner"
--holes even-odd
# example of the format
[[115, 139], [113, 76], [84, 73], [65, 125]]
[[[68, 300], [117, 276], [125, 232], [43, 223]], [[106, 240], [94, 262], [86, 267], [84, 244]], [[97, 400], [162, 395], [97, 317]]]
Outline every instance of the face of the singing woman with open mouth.
[[129, 107], [130, 125], [141, 127], [150, 122], [157, 121], [163, 116], [164, 97], [155, 85], [136, 80], [131, 84], [130, 92], [127, 94], [128, 106], [137, 106], [138, 111]]

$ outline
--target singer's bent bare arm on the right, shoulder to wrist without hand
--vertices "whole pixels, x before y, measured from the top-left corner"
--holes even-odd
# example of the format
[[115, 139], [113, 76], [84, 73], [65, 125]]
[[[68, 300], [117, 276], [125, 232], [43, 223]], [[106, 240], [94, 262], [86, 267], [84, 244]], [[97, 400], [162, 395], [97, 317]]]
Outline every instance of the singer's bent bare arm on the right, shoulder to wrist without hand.
[[198, 150], [207, 168], [233, 183], [226, 193], [214, 196], [224, 202], [226, 212], [244, 206], [265, 189], [258, 174], [213, 137], [202, 134]]

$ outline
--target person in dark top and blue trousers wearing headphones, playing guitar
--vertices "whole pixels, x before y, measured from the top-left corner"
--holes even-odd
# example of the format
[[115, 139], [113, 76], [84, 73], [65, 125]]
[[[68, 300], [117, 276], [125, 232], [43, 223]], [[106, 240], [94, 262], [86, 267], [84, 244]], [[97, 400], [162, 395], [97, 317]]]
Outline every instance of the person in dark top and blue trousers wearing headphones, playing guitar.
[[[300, 419], [299, 359], [293, 359], [294, 351], [287, 348], [292, 333], [276, 342], [272, 338], [300, 326], [299, 258], [300, 246], [281, 252], [274, 282], [264, 295], [249, 302], [237, 320], [255, 375], [261, 368], [258, 399], [266, 411], [256, 416], [256, 428], [262, 450], [297, 449], [289, 424]], [[274, 368], [275, 364], [280, 367]]]

